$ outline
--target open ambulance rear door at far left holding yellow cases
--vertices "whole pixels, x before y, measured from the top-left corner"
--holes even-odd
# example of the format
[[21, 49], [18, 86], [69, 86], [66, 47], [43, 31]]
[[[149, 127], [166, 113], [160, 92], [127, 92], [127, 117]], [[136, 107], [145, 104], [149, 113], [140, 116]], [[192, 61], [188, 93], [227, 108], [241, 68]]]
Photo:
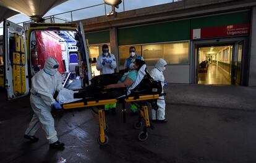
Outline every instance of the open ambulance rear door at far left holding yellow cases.
[[4, 87], [8, 100], [23, 97], [29, 92], [25, 40], [22, 26], [4, 20]]

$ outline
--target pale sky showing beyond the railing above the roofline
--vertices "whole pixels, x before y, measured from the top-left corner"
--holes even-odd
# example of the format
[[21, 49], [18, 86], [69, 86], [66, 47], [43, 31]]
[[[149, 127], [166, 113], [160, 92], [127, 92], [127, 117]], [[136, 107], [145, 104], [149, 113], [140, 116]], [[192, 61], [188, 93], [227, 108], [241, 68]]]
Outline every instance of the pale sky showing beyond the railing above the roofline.
[[[126, 3], [125, 3], [126, 1], [129, 1], [129, 0], [122, 0], [122, 4], [119, 5], [119, 9], [116, 9], [117, 12], [126, 11], [125, 7], [126, 8], [128, 7], [128, 6], [126, 6]], [[178, 2], [178, 1], [183, 1], [183, 0], [170, 0], [169, 3]], [[98, 13], [98, 14], [95, 14], [95, 10], [93, 10], [94, 11], [93, 14], [90, 15], [90, 12], [88, 11], [88, 9], [92, 9], [92, 8], [94, 8], [97, 11], [96, 13]], [[137, 9], [137, 8], [135, 8], [135, 9]], [[132, 9], [128, 9], [128, 10], [132, 10]], [[96, 4], [93, 6], [83, 7], [81, 9], [70, 10], [67, 12], [59, 13], [59, 14], [49, 15], [49, 16], [46, 16], [43, 18], [45, 19], [46, 23], [69, 23], [69, 22], [73, 22], [73, 21], [77, 21], [77, 20], [83, 20], [85, 18], [108, 15], [108, 13], [110, 11], [111, 11], [111, 6], [106, 5], [105, 3], [101, 3], [101, 4]], [[89, 12], [89, 14], [87, 12]], [[21, 25], [21, 26], [25, 26], [27, 23], [33, 23], [33, 22], [35, 22], [35, 21], [28, 20], [26, 22], [20, 22], [17, 24]], [[1, 28], [3, 28], [3, 27], [1, 26], [0, 29]]]

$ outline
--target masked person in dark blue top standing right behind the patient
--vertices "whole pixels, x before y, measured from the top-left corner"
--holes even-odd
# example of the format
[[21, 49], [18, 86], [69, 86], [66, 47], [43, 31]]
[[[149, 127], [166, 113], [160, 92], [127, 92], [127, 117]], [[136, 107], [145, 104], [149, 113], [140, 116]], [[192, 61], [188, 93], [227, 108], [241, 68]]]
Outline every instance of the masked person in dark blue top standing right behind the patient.
[[[143, 57], [136, 54], [136, 49], [134, 46], [129, 48], [129, 54], [130, 57], [126, 59], [126, 62], [124, 62], [124, 69], [132, 69], [131, 63], [135, 61], [135, 59], [143, 60]], [[134, 116], [135, 114], [139, 113], [139, 108], [137, 108], [136, 105], [130, 104], [130, 116]]]

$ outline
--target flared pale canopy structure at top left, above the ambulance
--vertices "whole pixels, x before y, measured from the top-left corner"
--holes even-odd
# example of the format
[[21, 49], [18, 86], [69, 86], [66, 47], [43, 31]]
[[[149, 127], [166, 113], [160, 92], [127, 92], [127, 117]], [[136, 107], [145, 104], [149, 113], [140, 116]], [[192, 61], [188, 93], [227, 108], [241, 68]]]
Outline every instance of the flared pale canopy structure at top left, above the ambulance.
[[20, 12], [40, 22], [46, 12], [65, 1], [67, 0], [0, 0], [0, 6]]

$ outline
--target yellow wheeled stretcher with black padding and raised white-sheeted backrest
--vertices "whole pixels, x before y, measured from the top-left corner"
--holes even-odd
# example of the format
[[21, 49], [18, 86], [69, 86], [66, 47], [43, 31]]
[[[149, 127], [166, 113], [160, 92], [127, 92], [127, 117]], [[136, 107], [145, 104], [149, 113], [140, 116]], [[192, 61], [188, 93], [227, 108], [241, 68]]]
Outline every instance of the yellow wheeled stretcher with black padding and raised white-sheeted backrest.
[[[72, 103], [66, 103], [62, 105], [64, 109], [74, 109], [74, 108], [87, 108], [87, 107], [96, 107], [98, 109], [98, 118], [100, 126], [100, 136], [98, 137], [98, 143], [100, 145], [106, 145], [108, 143], [108, 136], [105, 131], [108, 129], [106, 124], [105, 110], [104, 105], [111, 103], [121, 103], [122, 104], [122, 113], [124, 122], [126, 122], [126, 103], [133, 103], [140, 109], [139, 118], [134, 122], [134, 128], [142, 128], [144, 122], [143, 130], [139, 133], [138, 138], [140, 141], [145, 141], [148, 138], [147, 129], [153, 129], [153, 125], [150, 122], [148, 114], [148, 103], [151, 104], [151, 109], [158, 109], [156, 101], [160, 96], [165, 94], [161, 93], [161, 83], [155, 82], [147, 73], [145, 66], [140, 68], [140, 71], [137, 75], [135, 83], [130, 87], [130, 89], [121, 97], [109, 98], [113, 94], [109, 92], [105, 96], [98, 96], [96, 87], [90, 87], [89, 89], [81, 90], [74, 95], [76, 98], [82, 98], [82, 100], [75, 101]], [[148, 82], [149, 81], [149, 82]], [[140, 83], [140, 84], [139, 84]], [[140, 89], [138, 89], [140, 87]], [[93, 94], [94, 93], [94, 94]], [[93, 95], [92, 95], [93, 94]], [[129, 94], [129, 95], [128, 95]], [[90, 95], [92, 95], [90, 97]], [[143, 122], [142, 122], [143, 121]]]

